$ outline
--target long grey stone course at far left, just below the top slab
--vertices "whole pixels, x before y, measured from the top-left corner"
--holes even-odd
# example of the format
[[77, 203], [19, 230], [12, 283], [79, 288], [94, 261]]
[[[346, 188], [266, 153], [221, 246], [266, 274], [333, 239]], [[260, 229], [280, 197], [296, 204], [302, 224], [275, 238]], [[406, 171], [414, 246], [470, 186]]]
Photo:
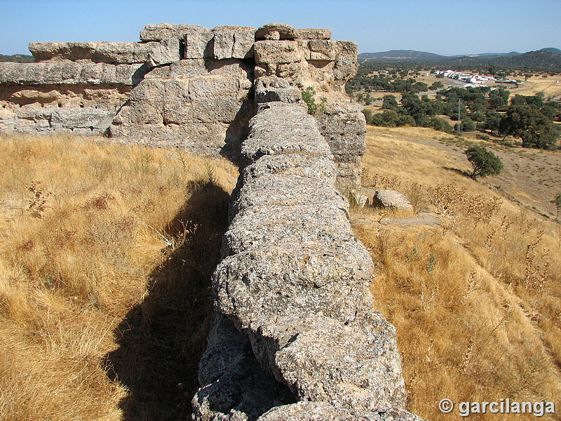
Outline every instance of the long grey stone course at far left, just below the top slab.
[[93, 62], [0, 63], [0, 83], [6, 85], [135, 85], [143, 67]]

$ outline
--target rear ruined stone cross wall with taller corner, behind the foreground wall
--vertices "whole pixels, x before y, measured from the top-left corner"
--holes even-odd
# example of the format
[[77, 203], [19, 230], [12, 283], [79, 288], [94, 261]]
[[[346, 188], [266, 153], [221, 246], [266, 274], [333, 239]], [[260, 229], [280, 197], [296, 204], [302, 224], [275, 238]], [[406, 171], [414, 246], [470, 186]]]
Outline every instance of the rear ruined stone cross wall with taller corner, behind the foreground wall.
[[330, 38], [328, 29], [280, 24], [163, 23], [147, 25], [137, 43], [31, 43], [36, 62], [0, 63], [0, 133], [107, 134], [237, 160], [259, 88], [291, 87], [283, 95], [299, 102], [312, 86], [337, 187], [355, 191], [365, 121], [344, 84], [358, 68], [358, 46]]

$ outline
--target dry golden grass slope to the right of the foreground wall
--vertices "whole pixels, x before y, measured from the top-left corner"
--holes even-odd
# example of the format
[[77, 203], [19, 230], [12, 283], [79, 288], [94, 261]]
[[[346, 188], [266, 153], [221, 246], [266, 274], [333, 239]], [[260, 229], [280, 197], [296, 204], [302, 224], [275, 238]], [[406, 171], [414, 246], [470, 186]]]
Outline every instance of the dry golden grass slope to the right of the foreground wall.
[[404, 139], [417, 130], [370, 131], [363, 183], [406, 192], [441, 225], [384, 225], [372, 210], [354, 225], [377, 267], [377, 308], [396, 326], [410, 410], [427, 420], [457, 417], [440, 413], [443, 398], [559, 408], [560, 225], [467, 178], [467, 161]]

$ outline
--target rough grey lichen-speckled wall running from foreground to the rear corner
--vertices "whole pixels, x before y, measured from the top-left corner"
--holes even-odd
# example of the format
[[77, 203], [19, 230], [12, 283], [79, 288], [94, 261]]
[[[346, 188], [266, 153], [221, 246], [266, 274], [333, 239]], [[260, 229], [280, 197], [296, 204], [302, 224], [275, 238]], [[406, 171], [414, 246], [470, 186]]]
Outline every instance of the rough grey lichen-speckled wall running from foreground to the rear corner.
[[420, 420], [403, 408], [395, 330], [374, 311], [372, 259], [351, 233], [330, 145], [290, 86], [262, 85], [194, 417]]

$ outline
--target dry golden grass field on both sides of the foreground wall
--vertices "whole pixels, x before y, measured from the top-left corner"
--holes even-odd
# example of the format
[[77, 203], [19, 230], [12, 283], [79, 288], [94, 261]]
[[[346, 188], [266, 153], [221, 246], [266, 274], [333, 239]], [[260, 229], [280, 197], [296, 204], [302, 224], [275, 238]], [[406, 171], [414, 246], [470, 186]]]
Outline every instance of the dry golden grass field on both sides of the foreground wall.
[[[560, 154], [497, 147], [503, 173], [475, 182], [465, 142], [369, 127], [363, 185], [400, 190], [414, 211], [351, 209], [409, 409], [559, 408]], [[188, 419], [238, 169], [102, 138], [4, 135], [0, 148], [0, 420]]]

